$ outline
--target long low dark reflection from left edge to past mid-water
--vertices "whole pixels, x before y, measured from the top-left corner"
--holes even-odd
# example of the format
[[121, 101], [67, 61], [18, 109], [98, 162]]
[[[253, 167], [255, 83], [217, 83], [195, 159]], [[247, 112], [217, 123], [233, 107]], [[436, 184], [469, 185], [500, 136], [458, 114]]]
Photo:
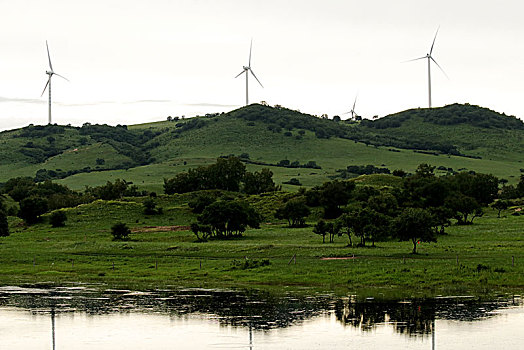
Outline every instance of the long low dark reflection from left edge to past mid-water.
[[216, 318], [223, 325], [260, 330], [288, 327], [310, 319], [327, 312], [331, 304], [332, 299], [327, 297], [276, 296], [261, 291], [0, 290], [0, 306], [22, 307], [33, 312], [48, 313], [54, 308], [56, 313], [76, 311], [92, 315], [158, 312], [182, 316], [200, 313]]

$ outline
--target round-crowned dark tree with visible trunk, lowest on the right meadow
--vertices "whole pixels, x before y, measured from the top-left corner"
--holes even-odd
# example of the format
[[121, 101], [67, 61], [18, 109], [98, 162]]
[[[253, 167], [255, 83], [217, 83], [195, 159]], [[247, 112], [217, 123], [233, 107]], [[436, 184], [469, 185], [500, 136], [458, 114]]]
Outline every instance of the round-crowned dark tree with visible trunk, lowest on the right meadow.
[[412, 253], [417, 253], [418, 242], [436, 242], [433, 217], [421, 208], [405, 208], [395, 219], [395, 236], [413, 243]]

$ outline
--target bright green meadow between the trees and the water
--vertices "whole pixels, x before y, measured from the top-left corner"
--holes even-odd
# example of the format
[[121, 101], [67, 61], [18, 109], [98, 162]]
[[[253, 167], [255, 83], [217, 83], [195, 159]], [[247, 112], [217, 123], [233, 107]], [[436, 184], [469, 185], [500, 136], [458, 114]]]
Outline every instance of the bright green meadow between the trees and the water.
[[[141, 199], [96, 201], [68, 209], [67, 226], [56, 229], [45, 222], [24, 227], [10, 218], [11, 235], [0, 240], [0, 280], [142, 289], [314, 289], [392, 297], [524, 291], [524, 217], [510, 211], [499, 219], [488, 210], [474, 225], [451, 226], [448, 235], [421, 244], [419, 254], [412, 255], [409, 242], [349, 248], [347, 238], [339, 237], [322, 244], [311, 227], [290, 229], [270, 218], [241, 239], [197, 243], [185, 227], [195, 220], [188, 196], [159, 197], [164, 214], [157, 216], [142, 213]], [[257, 205], [261, 198], [251, 200]], [[111, 239], [110, 227], [117, 221], [135, 231], [130, 241]], [[351, 259], [322, 260], [333, 257]], [[253, 267], [264, 259], [269, 265]]]

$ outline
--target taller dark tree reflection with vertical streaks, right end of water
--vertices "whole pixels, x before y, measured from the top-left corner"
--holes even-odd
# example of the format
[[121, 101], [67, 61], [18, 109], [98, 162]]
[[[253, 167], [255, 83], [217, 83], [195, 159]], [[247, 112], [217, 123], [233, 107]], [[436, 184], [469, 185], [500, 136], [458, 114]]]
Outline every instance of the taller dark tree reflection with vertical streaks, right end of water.
[[390, 324], [396, 332], [407, 335], [431, 334], [435, 319], [475, 321], [495, 315], [494, 311], [518, 306], [515, 300], [482, 301], [476, 298], [414, 299], [410, 301], [356, 301], [338, 299], [335, 316], [344, 325], [362, 331], [380, 324]]

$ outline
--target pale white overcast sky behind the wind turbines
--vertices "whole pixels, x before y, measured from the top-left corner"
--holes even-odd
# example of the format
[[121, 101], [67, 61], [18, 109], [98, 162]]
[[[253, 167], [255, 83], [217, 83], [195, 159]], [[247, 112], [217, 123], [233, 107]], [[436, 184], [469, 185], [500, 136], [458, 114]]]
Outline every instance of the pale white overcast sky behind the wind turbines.
[[471, 103], [524, 117], [518, 0], [0, 0], [0, 130], [134, 124], [267, 101], [330, 117]]

